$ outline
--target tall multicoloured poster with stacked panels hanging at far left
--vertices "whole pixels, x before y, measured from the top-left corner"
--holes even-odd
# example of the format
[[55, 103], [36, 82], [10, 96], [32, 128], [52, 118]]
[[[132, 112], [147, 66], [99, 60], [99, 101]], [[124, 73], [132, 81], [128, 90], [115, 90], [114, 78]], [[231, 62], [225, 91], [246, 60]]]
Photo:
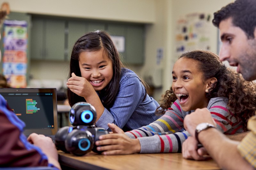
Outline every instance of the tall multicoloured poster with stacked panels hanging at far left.
[[26, 21], [4, 21], [3, 74], [13, 88], [27, 86], [28, 24]]

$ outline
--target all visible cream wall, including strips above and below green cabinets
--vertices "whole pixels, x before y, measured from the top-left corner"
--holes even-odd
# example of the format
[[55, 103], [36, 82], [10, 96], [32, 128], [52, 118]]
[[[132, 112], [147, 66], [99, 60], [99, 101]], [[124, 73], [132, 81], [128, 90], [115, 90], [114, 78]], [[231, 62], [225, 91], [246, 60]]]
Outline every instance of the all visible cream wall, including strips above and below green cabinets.
[[[0, 0], [0, 3], [4, 1]], [[180, 16], [193, 12], [210, 13], [219, 10], [232, 0], [6, 0], [11, 10], [47, 15], [95, 18], [103, 20], [146, 23], [145, 64], [129, 66], [140, 77], [150, 69], [163, 68], [163, 88], [157, 89], [154, 98], [171, 86], [172, 67], [176, 58], [174, 35]], [[75, 3], [74, 3], [75, 2]], [[29, 5], [28, 5], [29, 4]], [[212, 19], [212, 18], [211, 18]], [[211, 26], [211, 51], [217, 52], [217, 28]], [[156, 65], [156, 50], [164, 49], [164, 57]], [[63, 79], [68, 75], [67, 62], [31, 62], [30, 73], [39, 79]]]

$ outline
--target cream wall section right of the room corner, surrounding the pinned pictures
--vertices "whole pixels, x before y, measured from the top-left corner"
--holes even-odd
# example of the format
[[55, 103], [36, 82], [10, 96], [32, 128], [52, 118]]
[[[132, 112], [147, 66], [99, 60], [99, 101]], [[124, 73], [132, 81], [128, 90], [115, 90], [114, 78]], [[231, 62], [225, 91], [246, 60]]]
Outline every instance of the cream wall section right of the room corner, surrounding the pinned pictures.
[[[171, 32], [168, 35], [167, 48], [168, 55], [166, 56], [169, 59], [165, 60], [165, 69], [164, 69], [164, 86], [162, 92], [167, 90], [172, 84], [172, 67], [178, 56], [175, 55], [175, 27], [176, 21], [180, 18], [180, 16], [184, 16], [185, 14], [194, 13], [194, 12], [203, 12], [212, 14], [211, 20], [213, 18], [213, 13], [221, 9], [221, 7], [233, 2], [232, 0], [172, 0], [171, 3], [168, 4], [168, 16], [169, 20], [167, 29]], [[217, 28], [211, 25], [211, 37], [210, 37], [210, 45], [211, 51], [217, 53]]]

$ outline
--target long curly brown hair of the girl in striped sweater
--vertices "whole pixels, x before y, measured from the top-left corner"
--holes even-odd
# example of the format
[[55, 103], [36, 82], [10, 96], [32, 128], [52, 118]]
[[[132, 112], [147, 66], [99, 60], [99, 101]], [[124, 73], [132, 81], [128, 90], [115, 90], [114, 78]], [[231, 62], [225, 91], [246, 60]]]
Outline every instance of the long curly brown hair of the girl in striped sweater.
[[[235, 70], [227, 68], [221, 63], [219, 56], [210, 51], [190, 51], [182, 54], [179, 59], [182, 57], [198, 61], [199, 64], [196, 67], [203, 73], [203, 80], [217, 79], [206, 95], [208, 101], [214, 97], [226, 97], [230, 116], [234, 116], [237, 121], [241, 119], [243, 129], [247, 130], [247, 121], [256, 111], [255, 83], [244, 80]], [[156, 109], [156, 114], [163, 115], [175, 100], [177, 97], [170, 87], [159, 100], [160, 107]]]

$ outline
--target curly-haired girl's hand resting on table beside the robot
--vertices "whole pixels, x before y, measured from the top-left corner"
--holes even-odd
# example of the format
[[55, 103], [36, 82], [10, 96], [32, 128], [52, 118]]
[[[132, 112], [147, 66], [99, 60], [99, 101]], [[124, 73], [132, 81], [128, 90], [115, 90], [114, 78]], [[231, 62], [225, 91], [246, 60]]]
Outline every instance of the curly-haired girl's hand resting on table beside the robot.
[[101, 135], [99, 137], [100, 140], [95, 142], [98, 146], [97, 150], [104, 151], [102, 152], [103, 155], [121, 155], [140, 152], [140, 141], [138, 139], [127, 137], [124, 131], [113, 123], [108, 123], [108, 127], [113, 133]]

